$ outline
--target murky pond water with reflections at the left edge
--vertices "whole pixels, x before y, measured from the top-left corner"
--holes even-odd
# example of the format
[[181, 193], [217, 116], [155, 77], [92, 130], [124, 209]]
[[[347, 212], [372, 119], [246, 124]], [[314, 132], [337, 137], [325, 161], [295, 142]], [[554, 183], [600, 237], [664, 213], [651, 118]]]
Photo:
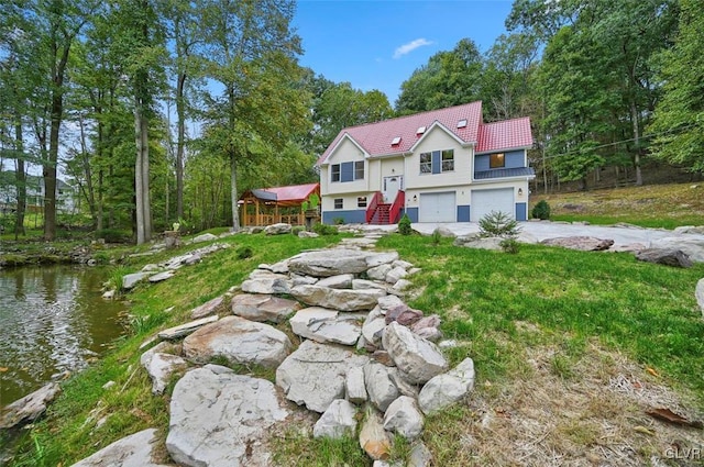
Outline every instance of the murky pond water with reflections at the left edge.
[[124, 332], [124, 304], [101, 298], [107, 271], [0, 269], [0, 407], [75, 373]]

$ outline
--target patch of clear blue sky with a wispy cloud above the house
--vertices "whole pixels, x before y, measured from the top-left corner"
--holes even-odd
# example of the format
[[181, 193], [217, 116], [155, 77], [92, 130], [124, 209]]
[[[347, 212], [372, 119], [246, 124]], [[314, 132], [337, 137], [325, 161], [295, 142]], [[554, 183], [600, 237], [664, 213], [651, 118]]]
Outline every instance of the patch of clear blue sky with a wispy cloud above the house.
[[294, 26], [302, 66], [355, 89], [378, 89], [394, 105], [400, 85], [463, 37], [486, 52], [506, 33], [512, 0], [298, 0]]

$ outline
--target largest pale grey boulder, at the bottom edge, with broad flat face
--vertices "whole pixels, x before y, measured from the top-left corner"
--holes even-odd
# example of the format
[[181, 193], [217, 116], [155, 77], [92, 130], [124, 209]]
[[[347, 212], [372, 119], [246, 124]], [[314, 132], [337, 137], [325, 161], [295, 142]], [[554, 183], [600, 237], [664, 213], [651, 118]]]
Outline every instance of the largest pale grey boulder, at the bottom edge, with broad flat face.
[[288, 415], [274, 385], [206, 365], [174, 388], [166, 449], [183, 466], [268, 466], [266, 440]]

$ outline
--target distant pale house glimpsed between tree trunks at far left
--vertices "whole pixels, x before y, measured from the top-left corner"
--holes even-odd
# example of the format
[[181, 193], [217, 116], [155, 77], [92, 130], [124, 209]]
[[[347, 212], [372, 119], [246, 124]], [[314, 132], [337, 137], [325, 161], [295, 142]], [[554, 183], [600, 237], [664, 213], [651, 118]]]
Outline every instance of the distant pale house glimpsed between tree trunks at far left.
[[[0, 173], [0, 210], [3, 213], [16, 210], [18, 193], [15, 188], [15, 173], [6, 170]], [[44, 209], [44, 180], [35, 175], [26, 176], [26, 207], [25, 211]], [[62, 179], [56, 180], [56, 212], [75, 214], [79, 209], [79, 192], [74, 186]]]

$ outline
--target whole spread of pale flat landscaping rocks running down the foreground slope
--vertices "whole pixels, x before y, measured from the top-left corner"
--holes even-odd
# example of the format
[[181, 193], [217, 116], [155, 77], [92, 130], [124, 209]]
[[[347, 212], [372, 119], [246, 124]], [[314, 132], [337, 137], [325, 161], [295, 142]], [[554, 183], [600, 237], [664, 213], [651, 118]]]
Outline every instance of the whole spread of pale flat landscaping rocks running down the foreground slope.
[[[375, 465], [387, 465], [393, 434], [413, 446], [405, 465], [430, 465], [432, 456], [419, 441], [424, 414], [464, 398], [473, 388], [474, 365], [466, 359], [450, 368], [433, 343], [442, 336], [440, 318], [403, 299], [405, 277], [418, 269], [395, 252], [371, 251], [378, 236], [260, 265], [237, 294], [194, 309], [195, 321], [143, 344], [162, 341], [141, 358], [155, 394], [183, 375], [173, 390], [166, 437], [174, 462], [271, 465], [268, 436], [299, 405], [320, 414], [315, 437], [354, 436], [362, 420], [360, 447]], [[185, 260], [142, 274], [173, 270]], [[219, 316], [228, 301], [228, 314]], [[280, 330], [286, 321], [297, 348]], [[275, 369], [275, 383], [213, 362]], [[116, 448], [120, 443], [131, 454]], [[153, 465], [152, 447], [153, 432], [144, 431], [78, 465]]]

